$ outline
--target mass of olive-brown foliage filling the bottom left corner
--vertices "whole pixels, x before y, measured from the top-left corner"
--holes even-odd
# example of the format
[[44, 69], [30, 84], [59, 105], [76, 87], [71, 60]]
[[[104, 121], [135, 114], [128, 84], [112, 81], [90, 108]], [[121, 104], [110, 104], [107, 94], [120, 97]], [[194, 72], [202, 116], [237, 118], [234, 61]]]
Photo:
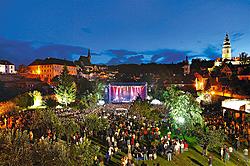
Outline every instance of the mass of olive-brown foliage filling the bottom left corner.
[[0, 165], [94, 165], [100, 147], [84, 138], [79, 145], [39, 140], [29, 143], [27, 131], [0, 130]]

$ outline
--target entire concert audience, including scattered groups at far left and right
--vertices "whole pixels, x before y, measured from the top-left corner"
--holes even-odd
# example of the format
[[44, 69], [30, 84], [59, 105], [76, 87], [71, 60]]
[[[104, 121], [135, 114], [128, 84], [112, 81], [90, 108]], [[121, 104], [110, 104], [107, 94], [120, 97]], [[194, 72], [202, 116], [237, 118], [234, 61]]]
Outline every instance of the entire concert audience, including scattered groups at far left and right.
[[[188, 151], [187, 141], [180, 137], [174, 137], [168, 130], [170, 128], [169, 124], [164, 121], [149, 121], [143, 117], [130, 114], [127, 109], [119, 110], [112, 105], [105, 109], [98, 109], [95, 113], [109, 121], [107, 130], [99, 131], [94, 135], [95, 137], [99, 137], [99, 140], [105, 140], [103, 143], [108, 147], [104, 156], [106, 164], [109, 164], [111, 158], [116, 157], [116, 154], [119, 152], [126, 153], [126, 156], [121, 159], [122, 165], [132, 166], [135, 165], [133, 159], [136, 162], [139, 160], [155, 160], [158, 155], [161, 155], [166, 160], [171, 161], [174, 156]], [[56, 110], [56, 114], [59, 117], [73, 117], [77, 122], [89, 114], [89, 112], [72, 112], [71, 110], [58, 109]], [[1, 128], [27, 130], [27, 126], [31, 123], [29, 120], [31, 116], [32, 111], [19, 112], [17, 115], [3, 115], [0, 117]], [[215, 116], [205, 116], [205, 124], [213, 126], [214, 129], [224, 129], [229, 140], [232, 141], [232, 147], [225, 145], [221, 148], [221, 159], [224, 162], [229, 160], [234, 150], [240, 148], [242, 144], [241, 140], [247, 140], [249, 148], [250, 128], [248, 123], [225, 120], [221, 113], [219, 113], [215, 114]], [[168, 131], [161, 133], [161, 128], [166, 128], [166, 131]], [[84, 136], [86, 136], [85, 132], [84, 126], [81, 126], [81, 131], [72, 135], [70, 142], [81, 144]], [[30, 131], [29, 139], [31, 143], [34, 141], [33, 137], [33, 132]], [[56, 131], [48, 129], [47, 135], [42, 136], [40, 141], [44, 139], [49, 139], [51, 142], [57, 141]], [[247, 153], [248, 151], [244, 151], [244, 154]], [[96, 158], [96, 164], [100, 165], [102, 162], [102, 157]]]

